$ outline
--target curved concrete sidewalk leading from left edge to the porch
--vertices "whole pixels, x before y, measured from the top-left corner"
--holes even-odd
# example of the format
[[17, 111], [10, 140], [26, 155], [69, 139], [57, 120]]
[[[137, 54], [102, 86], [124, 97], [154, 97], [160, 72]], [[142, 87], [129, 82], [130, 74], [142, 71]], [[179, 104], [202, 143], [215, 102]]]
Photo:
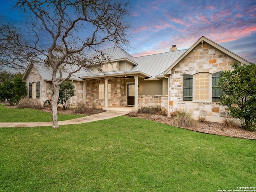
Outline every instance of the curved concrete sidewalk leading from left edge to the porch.
[[[88, 122], [122, 116], [127, 113], [107, 111], [107, 112], [98, 113], [98, 114], [94, 114], [86, 117], [81, 117], [81, 118], [76, 118], [76, 119], [71, 119], [66, 121], [59, 121], [59, 125], [74, 125], [74, 124], [88, 123]], [[27, 123], [1, 123], [0, 122], [0, 127], [44, 127], [44, 126], [52, 126], [52, 122], [27, 122]]]

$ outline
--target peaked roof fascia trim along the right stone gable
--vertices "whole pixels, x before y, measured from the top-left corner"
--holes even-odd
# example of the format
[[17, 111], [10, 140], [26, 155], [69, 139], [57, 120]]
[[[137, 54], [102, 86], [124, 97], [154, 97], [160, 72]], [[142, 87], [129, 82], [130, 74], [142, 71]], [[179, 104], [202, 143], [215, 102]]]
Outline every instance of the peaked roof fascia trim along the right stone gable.
[[202, 42], [202, 40], [204, 42], [206, 42], [207, 44], [209, 44], [210, 46], [216, 48], [217, 50], [219, 50], [220, 52], [225, 53], [226, 55], [228, 55], [229, 57], [233, 58], [234, 60], [237, 60], [238, 62], [242, 63], [242, 64], [249, 64], [249, 62], [245, 59], [243, 59], [242, 57], [234, 54], [233, 52], [231, 52], [230, 50], [227, 50], [226, 48], [220, 46], [219, 44], [213, 42], [212, 40], [202, 36], [201, 38], [199, 38], [182, 56], [180, 56], [180, 58], [178, 58], [173, 64], [172, 66], [170, 66], [163, 74], [164, 75], [170, 75], [172, 73], [172, 68], [174, 68], [174, 66], [176, 66], [185, 56], [187, 56], [188, 53], [190, 53], [199, 43]]

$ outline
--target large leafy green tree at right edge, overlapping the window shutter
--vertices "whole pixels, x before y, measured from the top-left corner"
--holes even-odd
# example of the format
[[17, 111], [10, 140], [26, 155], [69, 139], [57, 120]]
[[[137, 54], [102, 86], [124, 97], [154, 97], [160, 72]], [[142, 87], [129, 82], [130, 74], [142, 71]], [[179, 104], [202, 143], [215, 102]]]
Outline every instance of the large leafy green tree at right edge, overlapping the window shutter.
[[256, 65], [250, 63], [232, 64], [232, 71], [222, 72], [218, 88], [223, 91], [220, 105], [226, 106], [233, 118], [244, 123], [244, 129], [251, 130], [256, 124]]

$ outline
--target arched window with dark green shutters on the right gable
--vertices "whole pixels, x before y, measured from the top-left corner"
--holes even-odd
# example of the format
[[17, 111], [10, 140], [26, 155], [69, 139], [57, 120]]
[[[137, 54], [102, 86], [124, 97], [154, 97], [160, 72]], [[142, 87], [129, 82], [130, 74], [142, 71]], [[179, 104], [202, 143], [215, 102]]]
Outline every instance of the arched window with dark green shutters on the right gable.
[[214, 74], [199, 73], [194, 76], [183, 74], [183, 100], [184, 101], [220, 101], [223, 92], [217, 86], [221, 72]]

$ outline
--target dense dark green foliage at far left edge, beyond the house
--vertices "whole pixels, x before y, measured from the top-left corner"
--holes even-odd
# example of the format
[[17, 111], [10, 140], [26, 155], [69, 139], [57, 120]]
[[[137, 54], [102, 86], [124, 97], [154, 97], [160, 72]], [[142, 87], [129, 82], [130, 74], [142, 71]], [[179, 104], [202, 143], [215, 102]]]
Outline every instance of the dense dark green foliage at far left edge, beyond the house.
[[[5, 79], [4, 79], [5, 78]], [[10, 105], [18, 104], [27, 95], [26, 83], [22, 82], [22, 74], [0, 73], [0, 100]]]

